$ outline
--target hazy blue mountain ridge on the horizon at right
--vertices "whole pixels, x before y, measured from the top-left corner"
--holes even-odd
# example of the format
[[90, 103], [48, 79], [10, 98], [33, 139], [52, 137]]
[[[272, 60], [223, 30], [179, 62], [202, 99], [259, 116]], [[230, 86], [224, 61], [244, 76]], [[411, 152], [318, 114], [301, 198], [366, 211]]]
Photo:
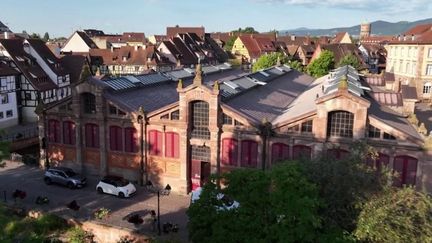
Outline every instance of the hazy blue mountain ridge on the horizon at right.
[[[387, 21], [375, 21], [372, 22], [372, 34], [373, 35], [398, 35], [407, 31], [408, 29], [418, 25], [432, 23], [432, 18], [422, 19], [414, 22], [400, 21], [396, 23], [391, 23]], [[333, 36], [338, 32], [348, 32], [350, 35], [358, 36], [360, 34], [360, 25], [351, 27], [339, 27], [332, 29], [308, 29], [308, 28], [297, 28], [292, 30], [280, 30], [281, 35], [293, 34], [293, 35], [311, 35], [311, 36]]]

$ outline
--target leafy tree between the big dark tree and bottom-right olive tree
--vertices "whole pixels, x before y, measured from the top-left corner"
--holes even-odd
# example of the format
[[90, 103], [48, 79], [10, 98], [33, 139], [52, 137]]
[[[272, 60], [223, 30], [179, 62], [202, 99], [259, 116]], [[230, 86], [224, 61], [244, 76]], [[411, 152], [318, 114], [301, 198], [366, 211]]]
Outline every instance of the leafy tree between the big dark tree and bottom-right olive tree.
[[348, 158], [323, 155], [302, 162], [309, 180], [319, 187], [320, 197], [325, 202], [321, 213], [330, 231], [341, 229], [351, 233], [356, 227], [359, 206], [390, 187], [391, 175], [386, 167], [376, 170], [365, 163], [367, 158], [373, 159], [376, 155], [375, 149], [365, 142], [356, 142]]

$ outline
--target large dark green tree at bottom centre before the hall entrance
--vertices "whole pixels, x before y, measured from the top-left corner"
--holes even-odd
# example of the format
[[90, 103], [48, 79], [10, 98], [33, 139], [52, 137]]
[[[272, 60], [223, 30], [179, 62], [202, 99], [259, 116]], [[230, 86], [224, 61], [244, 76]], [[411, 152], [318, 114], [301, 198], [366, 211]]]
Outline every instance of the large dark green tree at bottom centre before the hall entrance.
[[[316, 242], [321, 205], [315, 185], [296, 163], [271, 170], [234, 170], [203, 187], [200, 199], [187, 211], [192, 242]], [[221, 210], [223, 193], [239, 207]]]

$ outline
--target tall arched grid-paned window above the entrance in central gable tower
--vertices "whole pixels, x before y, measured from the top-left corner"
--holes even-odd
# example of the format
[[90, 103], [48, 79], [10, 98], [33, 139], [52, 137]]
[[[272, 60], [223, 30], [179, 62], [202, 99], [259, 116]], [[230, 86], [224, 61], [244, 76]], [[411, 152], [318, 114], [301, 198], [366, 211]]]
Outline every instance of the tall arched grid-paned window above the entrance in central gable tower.
[[210, 139], [209, 104], [205, 101], [194, 101], [191, 104], [192, 138]]

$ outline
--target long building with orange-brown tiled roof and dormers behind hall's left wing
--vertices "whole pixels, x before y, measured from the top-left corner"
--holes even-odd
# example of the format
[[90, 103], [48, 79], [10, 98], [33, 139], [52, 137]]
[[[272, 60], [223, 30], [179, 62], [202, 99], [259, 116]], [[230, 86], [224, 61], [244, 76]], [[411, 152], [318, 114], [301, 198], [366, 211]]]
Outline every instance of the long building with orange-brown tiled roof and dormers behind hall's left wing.
[[146, 71], [168, 71], [175, 67], [154, 46], [122, 46], [111, 49], [90, 49], [92, 70], [104, 75], [131, 75]]

